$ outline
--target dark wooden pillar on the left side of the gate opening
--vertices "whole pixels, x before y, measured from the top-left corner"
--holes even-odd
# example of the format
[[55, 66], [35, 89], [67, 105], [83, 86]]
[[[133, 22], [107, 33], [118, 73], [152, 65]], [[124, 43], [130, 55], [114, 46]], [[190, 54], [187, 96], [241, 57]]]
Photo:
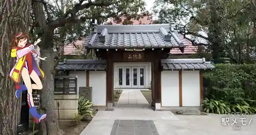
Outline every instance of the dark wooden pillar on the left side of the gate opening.
[[106, 62], [106, 110], [113, 109], [114, 94], [114, 63], [111, 54], [108, 52], [108, 60]]

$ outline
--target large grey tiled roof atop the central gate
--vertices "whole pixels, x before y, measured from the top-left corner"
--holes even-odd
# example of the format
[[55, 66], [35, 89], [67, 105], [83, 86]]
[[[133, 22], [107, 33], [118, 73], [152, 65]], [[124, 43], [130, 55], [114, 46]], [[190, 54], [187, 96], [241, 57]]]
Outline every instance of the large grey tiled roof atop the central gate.
[[169, 24], [99, 25], [86, 37], [84, 46], [94, 49], [185, 47], [178, 33], [169, 29]]

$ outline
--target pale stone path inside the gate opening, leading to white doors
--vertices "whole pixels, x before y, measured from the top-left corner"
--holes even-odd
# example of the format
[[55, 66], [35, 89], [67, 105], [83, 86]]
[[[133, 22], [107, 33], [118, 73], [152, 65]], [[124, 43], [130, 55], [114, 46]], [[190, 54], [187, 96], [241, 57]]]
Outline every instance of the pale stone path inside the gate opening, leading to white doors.
[[120, 98], [117, 101], [116, 106], [150, 106], [146, 98], [140, 91], [137, 90], [125, 90], [122, 91]]

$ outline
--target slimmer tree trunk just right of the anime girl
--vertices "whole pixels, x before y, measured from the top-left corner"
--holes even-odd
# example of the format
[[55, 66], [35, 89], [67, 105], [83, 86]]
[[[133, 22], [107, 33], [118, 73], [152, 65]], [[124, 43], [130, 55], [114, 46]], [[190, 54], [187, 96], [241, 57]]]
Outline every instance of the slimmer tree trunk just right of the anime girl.
[[[46, 42], [45, 42], [46, 43]], [[41, 68], [45, 73], [46, 79], [43, 81], [41, 92], [41, 107], [47, 114], [46, 120], [41, 121], [40, 131], [42, 135], [62, 134], [57, 120], [54, 107], [54, 57], [56, 55], [52, 48], [42, 48], [42, 56], [48, 56], [46, 61], [41, 61]]]

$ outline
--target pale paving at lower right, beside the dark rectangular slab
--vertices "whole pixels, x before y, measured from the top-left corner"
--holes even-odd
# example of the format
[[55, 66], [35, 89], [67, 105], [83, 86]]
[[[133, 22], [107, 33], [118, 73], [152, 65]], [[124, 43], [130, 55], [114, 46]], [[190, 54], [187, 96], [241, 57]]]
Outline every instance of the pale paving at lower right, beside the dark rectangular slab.
[[[154, 120], [160, 135], [255, 135], [256, 115], [247, 117], [227, 117], [225, 115], [208, 114], [208, 116], [178, 115], [178, 121]], [[222, 125], [222, 118], [229, 118], [229, 125]], [[246, 118], [247, 125], [241, 125], [240, 118]], [[234, 130], [237, 126], [233, 120], [237, 119], [241, 130]], [[248, 120], [252, 119], [248, 126]], [[255, 120], [254, 120], [255, 119]], [[245, 122], [246, 123], [246, 122]]]

